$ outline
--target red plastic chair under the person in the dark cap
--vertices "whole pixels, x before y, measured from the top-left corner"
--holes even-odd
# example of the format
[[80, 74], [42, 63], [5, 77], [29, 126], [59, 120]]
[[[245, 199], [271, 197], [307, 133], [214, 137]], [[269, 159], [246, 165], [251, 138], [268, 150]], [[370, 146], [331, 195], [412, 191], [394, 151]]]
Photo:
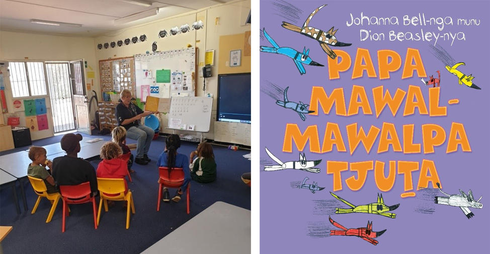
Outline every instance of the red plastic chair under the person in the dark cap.
[[66, 209], [68, 204], [84, 204], [92, 202], [94, 208], [94, 226], [97, 229], [97, 205], [95, 197], [90, 197], [92, 190], [90, 182], [80, 183], [78, 185], [60, 185], [59, 191], [63, 200], [63, 222], [61, 232], [65, 231], [65, 217], [69, 216], [69, 211]]

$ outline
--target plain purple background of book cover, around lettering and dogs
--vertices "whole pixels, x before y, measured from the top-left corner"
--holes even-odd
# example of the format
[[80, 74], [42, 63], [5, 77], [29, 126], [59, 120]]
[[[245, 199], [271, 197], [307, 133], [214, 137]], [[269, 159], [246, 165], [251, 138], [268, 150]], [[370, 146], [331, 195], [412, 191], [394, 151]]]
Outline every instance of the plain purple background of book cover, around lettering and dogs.
[[[306, 115], [306, 120], [303, 122], [299, 115], [290, 109], [282, 108], [275, 104], [275, 99], [271, 98], [264, 92], [260, 94], [261, 105], [261, 130], [260, 130], [260, 157], [261, 157], [261, 172], [260, 172], [260, 249], [264, 253], [298, 253], [309, 251], [344, 251], [352, 252], [362, 251], [364, 253], [374, 253], [374, 251], [389, 251], [387, 253], [415, 253], [425, 252], [426, 250], [440, 251], [440, 253], [458, 253], [467, 251], [482, 251], [488, 253], [489, 233], [489, 210], [490, 202], [490, 166], [489, 166], [489, 19], [488, 1], [479, 2], [447, 2], [447, 1], [420, 1], [420, 2], [354, 2], [354, 1], [288, 1], [293, 6], [302, 10], [302, 14], [298, 14], [299, 19], [296, 22], [291, 22], [283, 17], [280, 17], [278, 8], [275, 4], [284, 4], [285, 2], [269, 2], [261, 1], [260, 10], [260, 28], [265, 27], [269, 35], [279, 44], [279, 46], [292, 47], [298, 51], [302, 51], [303, 47], [310, 49], [310, 57], [324, 65], [325, 67], [305, 66], [306, 74], [301, 76], [296, 69], [293, 61], [284, 55], [260, 52], [261, 60], [261, 89], [268, 85], [268, 82], [274, 83], [277, 86], [285, 89], [289, 86], [288, 98], [290, 101], [302, 101], [309, 104], [311, 97], [312, 86], [322, 86], [326, 94], [343, 87], [346, 99], [346, 106], [349, 105], [352, 86], [364, 86], [369, 103], [373, 111], [373, 115], [360, 114], [345, 117], [335, 114], [335, 109], [330, 114], [326, 115], [320, 109], [318, 116]], [[336, 37], [339, 41], [352, 43], [349, 47], [332, 47], [333, 49], [341, 49], [348, 52], [354, 63], [357, 48], [369, 49], [373, 64], [375, 66], [376, 75], [378, 78], [368, 78], [366, 72], [364, 77], [351, 80], [352, 66], [345, 72], [341, 73], [341, 78], [337, 80], [329, 80], [328, 76], [328, 56], [322, 51], [318, 42], [313, 39], [303, 36], [299, 33], [287, 30], [281, 27], [282, 21], [292, 23], [296, 26], [302, 26], [306, 17], [310, 13], [323, 4], [328, 6], [322, 8], [311, 20], [309, 26], [329, 30], [332, 26], [339, 29]], [[361, 12], [368, 17], [398, 17], [400, 25], [366, 25], [346, 26], [346, 22], [350, 23], [350, 13], [354, 18], [360, 17]], [[443, 31], [437, 29], [437, 25], [427, 26], [404, 26], [402, 17], [418, 16], [419, 13], [425, 13], [426, 19], [430, 17], [446, 17], [453, 18], [453, 24], [445, 25]], [[458, 26], [457, 18], [474, 18], [480, 20], [479, 26]], [[466, 66], [460, 66], [458, 70], [464, 74], [472, 74], [476, 78], [473, 82], [482, 90], [475, 90], [465, 85], [458, 85], [458, 80], [455, 76], [449, 74], [444, 64], [434, 57], [429, 51], [429, 43], [427, 41], [389, 41], [388, 32], [413, 32], [420, 33], [420, 29], [427, 31], [440, 32], [464, 32], [466, 41], [455, 40], [451, 46], [451, 41], [442, 41], [439, 38], [437, 44], [442, 46], [456, 62], [463, 61]], [[372, 32], [385, 33], [385, 41], [360, 41], [359, 30], [372, 30]], [[434, 40], [432, 42], [434, 44]], [[271, 44], [262, 37], [260, 45], [271, 46]], [[400, 109], [395, 117], [386, 107], [379, 118], [375, 116], [374, 103], [372, 100], [372, 88], [380, 85], [384, 89], [389, 89], [393, 96], [397, 88], [407, 91], [409, 85], [420, 86], [424, 94], [424, 100], [428, 105], [429, 86], [423, 86], [420, 78], [401, 79], [402, 68], [407, 47], [420, 50], [424, 67], [428, 76], [434, 75], [437, 77], [436, 71], [441, 72], [441, 106], [447, 106], [447, 116], [430, 117], [429, 115], [420, 115], [419, 111], [411, 116], [403, 117], [402, 110], [405, 102], [403, 100]], [[391, 49], [398, 52], [402, 58], [402, 67], [394, 73], [390, 73], [389, 80], [379, 80], [378, 65], [377, 65], [377, 50]], [[258, 50], [258, 49], [257, 49]], [[428, 78], [424, 78], [426, 81]], [[432, 87], [432, 86], [431, 86]], [[405, 95], [406, 98], [406, 95]], [[450, 99], [459, 99], [459, 104], [448, 105]], [[442, 126], [446, 131], [446, 142], [442, 146], [435, 148], [435, 153], [432, 154], [403, 154], [393, 152], [392, 146], [389, 152], [377, 153], [379, 135], [370, 152], [366, 154], [362, 145], [358, 146], [354, 154], [351, 156], [349, 152], [337, 152], [336, 147], [330, 153], [317, 154], [309, 151], [309, 143], [305, 150], [307, 160], [322, 159], [317, 166], [321, 169], [320, 173], [314, 174], [300, 170], [280, 170], [280, 171], [263, 171], [264, 165], [274, 165], [275, 163], [269, 158], [264, 147], [267, 147], [276, 157], [283, 162], [297, 161], [298, 150], [293, 142], [293, 152], [282, 152], [284, 142], [284, 134], [287, 123], [298, 124], [301, 132], [306, 130], [309, 125], [317, 125], [318, 135], [320, 139], [320, 147], [323, 144], [323, 136], [326, 123], [334, 122], [339, 124], [343, 135], [346, 149], [349, 151], [347, 133], [345, 126], [354, 122], [358, 123], [367, 132], [371, 125], [381, 129], [382, 123], [394, 123], [398, 138], [402, 144], [403, 124], [415, 124], [414, 143], [422, 144], [422, 129], [421, 125], [426, 123], [434, 123]], [[472, 152], [462, 152], [459, 146], [458, 152], [446, 154], [447, 137], [450, 133], [451, 122], [459, 122], [464, 124], [467, 137], [469, 139]], [[482, 209], [471, 208], [474, 217], [468, 220], [462, 211], [457, 207], [444, 205], [435, 205], [433, 214], [415, 213], [414, 210], [420, 203], [417, 197], [420, 195], [417, 192], [414, 198], [400, 197], [403, 193], [403, 175], [396, 175], [393, 188], [383, 197], [386, 205], [400, 204], [395, 211], [396, 219], [390, 219], [379, 215], [370, 214], [339, 214], [332, 215], [332, 218], [344, 225], [347, 228], [366, 227], [367, 221], [373, 221], [373, 230], [387, 231], [377, 238], [379, 244], [374, 246], [367, 241], [356, 237], [330, 236], [323, 238], [313, 238], [307, 235], [308, 226], [311, 223], [322, 223], [330, 225], [328, 215], [315, 215], [314, 201], [315, 200], [335, 200], [329, 193], [333, 190], [333, 175], [326, 174], [326, 161], [347, 161], [360, 162], [379, 160], [385, 162], [385, 172], [387, 172], [388, 162], [390, 160], [418, 161], [419, 167], [422, 160], [433, 160], [443, 190], [449, 194], [458, 194], [458, 189], [468, 193], [471, 189], [476, 199], [480, 196], [483, 198], [480, 202], [483, 204]], [[417, 187], [420, 170], [412, 174], [414, 188]], [[368, 177], [364, 186], [354, 192], [347, 187], [345, 180], [350, 176], [355, 175], [350, 171], [342, 173], [343, 190], [336, 192], [340, 197], [348, 200], [355, 205], [363, 205], [376, 202], [377, 193], [381, 191], [377, 188], [374, 180], [374, 171], [368, 172]], [[357, 174], [356, 174], [357, 175]], [[302, 181], [305, 176], [309, 177], [307, 183], [311, 181], [318, 182], [319, 186], [326, 187], [324, 190], [316, 194], [310, 193], [307, 189], [296, 189], [290, 186], [292, 181]], [[356, 176], [357, 177], [357, 176]], [[429, 184], [429, 186], [432, 186]], [[437, 196], [441, 196], [438, 194]], [[431, 202], [429, 202], [431, 203]], [[348, 208], [347, 205], [339, 207]], [[337, 229], [337, 228], [336, 228]], [[325, 229], [325, 231], [328, 231]], [[366, 252], [367, 251], [367, 252]], [[379, 253], [379, 252], [378, 252]]]

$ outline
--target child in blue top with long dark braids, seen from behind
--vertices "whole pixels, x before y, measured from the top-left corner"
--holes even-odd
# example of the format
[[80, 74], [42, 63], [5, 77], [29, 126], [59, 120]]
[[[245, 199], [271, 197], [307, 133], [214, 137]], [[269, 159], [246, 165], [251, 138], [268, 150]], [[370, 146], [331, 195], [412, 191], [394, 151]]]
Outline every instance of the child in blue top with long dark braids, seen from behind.
[[[179, 202], [181, 200], [181, 195], [183, 193], [183, 189], [187, 188], [187, 185], [191, 181], [191, 171], [189, 170], [189, 159], [186, 155], [177, 153], [177, 149], [180, 147], [180, 138], [177, 134], [171, 134], [167, 137], [165, 141], [165, 150], [158, 157], [158, 161], [156, 165], [158, 167], [168, 167], [169, 175], [174, 168], [183, 168], [184, 169], [184, 183], [177, 190], [175, 197], [172, 198], [172, 201]], [[158, 179], [158, 183], [160, 180]], [[169, 189], [164, 187], [164, 199], [165, 202], [170, 202], [170, 194]]]

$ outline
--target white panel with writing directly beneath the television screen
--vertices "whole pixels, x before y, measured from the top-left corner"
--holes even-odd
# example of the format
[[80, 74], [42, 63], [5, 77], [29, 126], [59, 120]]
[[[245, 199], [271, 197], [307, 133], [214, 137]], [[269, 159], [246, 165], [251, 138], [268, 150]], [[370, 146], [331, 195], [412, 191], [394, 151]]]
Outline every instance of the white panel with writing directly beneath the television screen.
[[241, 122], [214, 122], [214, 140], [251, 146], [251, 124]]

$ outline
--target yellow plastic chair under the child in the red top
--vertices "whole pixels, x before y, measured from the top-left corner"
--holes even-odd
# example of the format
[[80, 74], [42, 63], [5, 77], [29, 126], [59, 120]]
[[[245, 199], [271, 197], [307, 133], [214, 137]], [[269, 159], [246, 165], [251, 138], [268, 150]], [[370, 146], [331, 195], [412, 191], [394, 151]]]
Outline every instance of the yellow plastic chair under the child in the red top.
[[[99, 203], [99, 213], [97, 214], [97, 225], [99, 225], [99, 221], [101, 218], [101, 210], [102, 210], [102, 202], [104, 202], [104, 210], [106, 212], [109, 211], [107, 206], [108, 200], [113, 201], [126, 201], [128, 202], [128, 210], [126, 215], [126, 229], [129, 228], [129, 209], [134, 214], [134, 203], [132, 199], [131, 190], [128, 189], [128, 193], [125, 195], [125, 184], [124, 178], [99, 178], [97, 177], [97, 184], [99, 188], [99, 192], [101, 195], [101, 201]], [[117, 195], [117, 196], [107, 196], [108, 194]]]

